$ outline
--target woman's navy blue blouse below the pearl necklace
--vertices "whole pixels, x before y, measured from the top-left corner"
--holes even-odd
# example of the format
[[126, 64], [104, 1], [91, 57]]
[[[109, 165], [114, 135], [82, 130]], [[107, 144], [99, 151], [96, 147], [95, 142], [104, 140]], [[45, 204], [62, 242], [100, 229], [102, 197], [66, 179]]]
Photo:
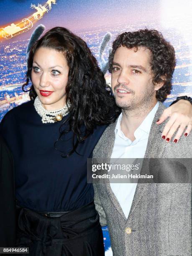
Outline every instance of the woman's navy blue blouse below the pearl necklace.
[[[61, 121], [62, 122], [62, 121]], [[15, 162], [18, 204], [37, 211], [75, 210], [93, 200], [92, 184], [87, 184], [87, 158], [107, 125], [97, 126], [94, 133], [68, 158], [61, 151], [72, 149], [73, 133], [59, 138], [58, 123], [42, 123], [33, 101], [10, 110], [0, 123]], [[64, 127], [66, 129], [66, 127]]]

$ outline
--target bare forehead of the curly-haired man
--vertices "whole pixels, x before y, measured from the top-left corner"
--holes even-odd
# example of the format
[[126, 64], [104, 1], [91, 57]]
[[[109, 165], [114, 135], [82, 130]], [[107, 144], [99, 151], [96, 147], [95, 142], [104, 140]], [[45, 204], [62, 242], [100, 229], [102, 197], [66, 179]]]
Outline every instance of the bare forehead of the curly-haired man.
[[127, 62], [130, 65], [146, 65], [151, 64], [151, 51], [144, 46], [133, 47], [131, 49], [126, 46], [120, 46], [114, 54], [113, 62]]

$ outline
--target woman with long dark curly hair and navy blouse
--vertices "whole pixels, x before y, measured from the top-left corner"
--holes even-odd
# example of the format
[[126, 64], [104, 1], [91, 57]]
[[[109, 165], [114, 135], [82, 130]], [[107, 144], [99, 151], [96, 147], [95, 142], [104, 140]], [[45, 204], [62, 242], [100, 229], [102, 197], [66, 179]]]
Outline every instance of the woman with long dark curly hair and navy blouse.
[[17, 246], [34, 256], [102, 256], [87, 158], [119, 109], [86, 43], [65, 28], [33, 45], [29, 80], [31, 101], [1, 123], [15, 161]]

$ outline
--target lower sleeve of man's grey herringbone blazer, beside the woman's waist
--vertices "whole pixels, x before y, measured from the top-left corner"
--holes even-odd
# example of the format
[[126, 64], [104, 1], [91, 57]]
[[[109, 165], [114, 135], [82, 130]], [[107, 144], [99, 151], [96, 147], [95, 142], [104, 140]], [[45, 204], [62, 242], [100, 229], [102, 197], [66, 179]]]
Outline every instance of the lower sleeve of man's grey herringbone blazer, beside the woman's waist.
[[97, 184], [93, 183], [93, 188], [94, 188], [95, 209], [99, 213], [100, 224], [101, 224], [102, 227], [104, 227], [104, 226], [107, 225], [107, 219], [106, 219], [105, 211], [103, 210], [103, 207], [101, 205], [100, 196], [99, 196], [99, 193], [98, 193], [98, 190], [97, 190]]

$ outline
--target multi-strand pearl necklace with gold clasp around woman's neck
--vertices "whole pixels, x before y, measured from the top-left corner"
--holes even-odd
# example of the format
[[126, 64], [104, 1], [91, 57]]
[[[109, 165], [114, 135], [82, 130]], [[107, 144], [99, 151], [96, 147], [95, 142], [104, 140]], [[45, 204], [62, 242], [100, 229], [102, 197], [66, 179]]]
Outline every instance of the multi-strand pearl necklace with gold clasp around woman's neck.
[[59, 110], [46, 110], [38, 96], [35, 98], [34, 107], [37, 113], [41, 116], [42, 123], [55, 123], [57, 121], [61, 121], [62, 118], [69, 112], [67, 104]]

